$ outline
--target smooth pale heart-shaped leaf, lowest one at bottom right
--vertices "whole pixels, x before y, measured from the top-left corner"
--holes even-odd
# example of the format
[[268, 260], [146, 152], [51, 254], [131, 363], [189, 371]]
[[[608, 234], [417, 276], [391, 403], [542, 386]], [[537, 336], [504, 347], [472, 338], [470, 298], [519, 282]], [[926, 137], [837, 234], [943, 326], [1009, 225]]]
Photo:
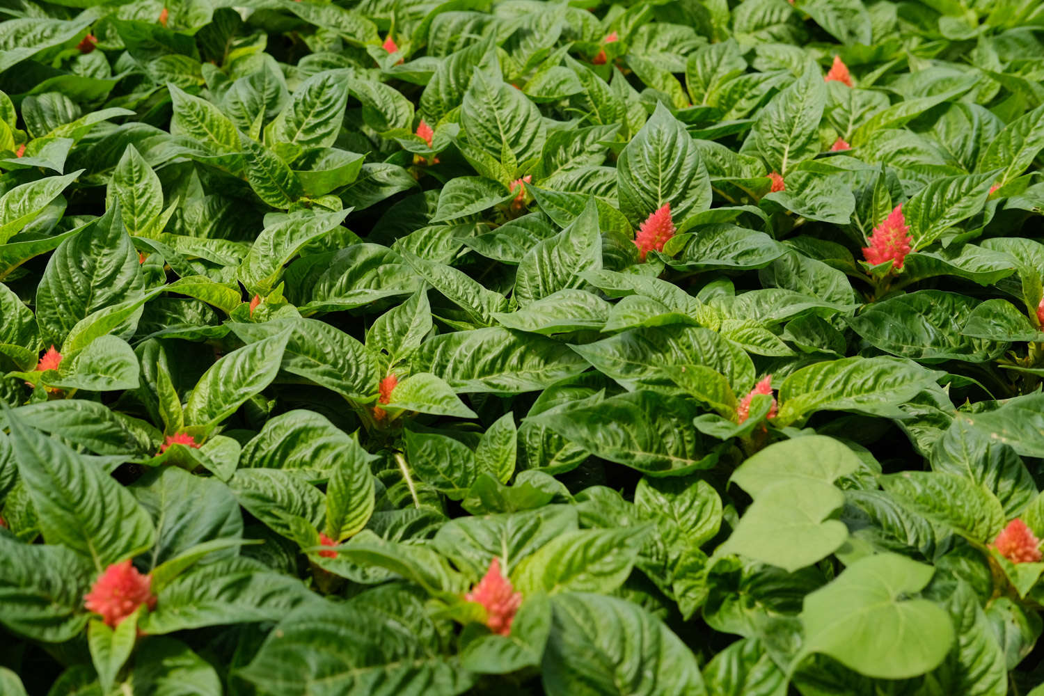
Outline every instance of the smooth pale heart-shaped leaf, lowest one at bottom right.
[[870, 677], [902, 679], [938, 667], [953, 645], [950, 618], [909, 596], [934, 569], [892, 553], [868, 556], [805, 597], [804, 653], [822, 652]]

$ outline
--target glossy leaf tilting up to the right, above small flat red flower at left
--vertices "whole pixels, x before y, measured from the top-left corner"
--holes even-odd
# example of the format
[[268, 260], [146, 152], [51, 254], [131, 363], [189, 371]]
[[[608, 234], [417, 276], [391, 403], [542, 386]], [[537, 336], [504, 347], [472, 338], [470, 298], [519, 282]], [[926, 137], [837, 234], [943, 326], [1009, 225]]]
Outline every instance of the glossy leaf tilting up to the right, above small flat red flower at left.
[[211, 365], [189, 395], [185, 422], [216, 426], [260, 393], [276, 378], [289, 337], [290, 333], [283, 331], [233, 351]]

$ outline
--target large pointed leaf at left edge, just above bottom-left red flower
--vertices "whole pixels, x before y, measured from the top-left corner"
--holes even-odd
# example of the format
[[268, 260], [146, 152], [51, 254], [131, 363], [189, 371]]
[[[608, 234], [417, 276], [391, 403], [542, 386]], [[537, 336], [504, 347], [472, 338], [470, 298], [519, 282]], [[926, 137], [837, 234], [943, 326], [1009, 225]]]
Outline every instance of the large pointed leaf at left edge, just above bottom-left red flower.
[[100, 572], [156, 541], [148, 514], [97, 464], [26, 426], [4, 407], [18, 472], [48, 544], [61, 544]]

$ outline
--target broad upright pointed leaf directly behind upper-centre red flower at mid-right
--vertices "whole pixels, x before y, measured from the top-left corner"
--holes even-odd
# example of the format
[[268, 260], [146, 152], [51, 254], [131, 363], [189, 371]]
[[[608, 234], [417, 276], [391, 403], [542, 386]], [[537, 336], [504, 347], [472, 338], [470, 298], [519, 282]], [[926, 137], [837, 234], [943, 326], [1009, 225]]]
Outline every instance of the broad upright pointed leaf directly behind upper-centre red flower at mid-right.
[[711, 203], [710, 178], [692, 138], [660, 103], [620, 153], [617, 186], [620, 210], [635, 227], [664, 203], [675, 225]]

